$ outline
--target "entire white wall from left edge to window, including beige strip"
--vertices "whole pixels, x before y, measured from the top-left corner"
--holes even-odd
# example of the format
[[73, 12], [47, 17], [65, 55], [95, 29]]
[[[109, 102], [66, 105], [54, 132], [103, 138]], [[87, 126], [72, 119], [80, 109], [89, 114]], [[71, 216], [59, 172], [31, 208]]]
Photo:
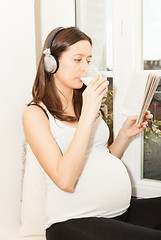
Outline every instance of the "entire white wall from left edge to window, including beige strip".
[[36, 73], [35, 42], [38, 61], [49, 31], [74, 20], [74, 0], [0, 1], [0, 236], [20, 221], [21, 116]]

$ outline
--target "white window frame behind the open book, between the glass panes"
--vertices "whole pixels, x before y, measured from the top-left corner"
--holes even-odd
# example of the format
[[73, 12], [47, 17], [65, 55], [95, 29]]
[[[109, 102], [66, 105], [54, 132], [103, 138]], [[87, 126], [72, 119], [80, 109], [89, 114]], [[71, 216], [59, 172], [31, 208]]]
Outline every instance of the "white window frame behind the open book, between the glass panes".
[[[118, 106], [126, 93], [131, 74], [134, 70], [143, 69], [142, 13], [142, 0], [113, 0], [114, 138], [126, 119], [119, 111]], [[161, 71], [157, 70], [157, 73], [161, 74]], [[155, 197], [161, 195], [161, 181], [142, 178], [143, 134], [135, 137], [131, 142], [122, 161], [131, 178], [133, 196]]]

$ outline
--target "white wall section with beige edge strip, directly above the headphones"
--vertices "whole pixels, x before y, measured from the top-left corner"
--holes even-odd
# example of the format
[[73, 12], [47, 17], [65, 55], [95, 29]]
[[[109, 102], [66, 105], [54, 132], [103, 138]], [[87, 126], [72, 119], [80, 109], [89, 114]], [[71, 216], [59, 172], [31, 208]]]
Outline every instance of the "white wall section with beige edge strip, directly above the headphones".
[[74, 0], [35, 0], [36, 15], [39, 19], [36, 22], [37, 62], [41, 53], [40, 47], [50, 31], [56, 27], [75, 25], [74, 2]]

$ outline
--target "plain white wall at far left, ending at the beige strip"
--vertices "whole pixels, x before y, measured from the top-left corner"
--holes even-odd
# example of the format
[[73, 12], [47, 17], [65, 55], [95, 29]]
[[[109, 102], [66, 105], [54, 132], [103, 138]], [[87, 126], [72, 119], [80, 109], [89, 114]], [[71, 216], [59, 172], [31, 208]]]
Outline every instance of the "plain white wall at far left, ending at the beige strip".
[[[0, 218], [17, 221], [23, 144], [21, 114], [35, 75], [33, 0], [0, 1]], [[6, 219], [5, 219], [6, 218]]]

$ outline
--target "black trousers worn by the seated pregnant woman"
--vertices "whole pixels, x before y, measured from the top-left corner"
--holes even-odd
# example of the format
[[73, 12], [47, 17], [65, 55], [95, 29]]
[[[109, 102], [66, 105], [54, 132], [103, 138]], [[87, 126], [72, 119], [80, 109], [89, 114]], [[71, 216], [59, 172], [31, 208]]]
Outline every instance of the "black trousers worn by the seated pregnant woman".
[[161, 240], [161, 197], [131, 199], [115, 218], [81, 218], [51, 225], [47, 240]]

